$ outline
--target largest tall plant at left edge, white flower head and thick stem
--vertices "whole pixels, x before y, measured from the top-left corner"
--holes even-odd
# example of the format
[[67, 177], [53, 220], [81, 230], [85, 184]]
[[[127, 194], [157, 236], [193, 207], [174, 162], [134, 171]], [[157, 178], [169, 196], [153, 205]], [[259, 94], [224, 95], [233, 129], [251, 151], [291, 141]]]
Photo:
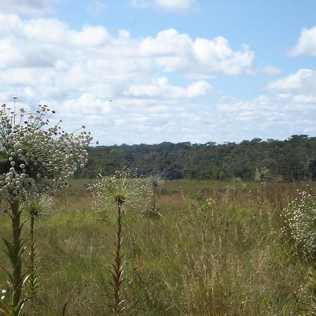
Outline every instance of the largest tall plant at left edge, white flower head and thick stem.
[[2, 237], [13, 268], [12, 272], [6, 271], [11, 299], [6, 305], [0, 301], [6, 315], [19, 315], [25, 303], [25, 298], [21, 300], [27, 275], [22, 275], [20, 202], [27, 195], [53, 193], [63, 187], [67, 178], [84, 166], [86, 146], [92, 139], [84, 130], [76, 135], [62, 131], [60, 122], [49, 126], [54, 113], [46, 105], [39, 105], [35, 114], [26, 114], [24, 109], [15, 113], [7, 105], [0, 110], [0, 199], [11, 205], [13, 232], [11, 242]]

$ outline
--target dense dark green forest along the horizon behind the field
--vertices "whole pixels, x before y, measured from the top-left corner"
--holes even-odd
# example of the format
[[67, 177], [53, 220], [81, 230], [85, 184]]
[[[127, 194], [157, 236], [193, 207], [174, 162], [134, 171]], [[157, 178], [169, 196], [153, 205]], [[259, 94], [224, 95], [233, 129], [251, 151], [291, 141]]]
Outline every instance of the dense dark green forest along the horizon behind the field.
[[166, 179], [253, 180], [265, 167], [285, 181], [316, 180], [316, 137], [294, 135], [287, 140], [261, 138], [241, 143], [168, 143], [89, 147], [88, 164], [77, 177], [110, 175], [124, 166], [138, 176], [159, 174]]

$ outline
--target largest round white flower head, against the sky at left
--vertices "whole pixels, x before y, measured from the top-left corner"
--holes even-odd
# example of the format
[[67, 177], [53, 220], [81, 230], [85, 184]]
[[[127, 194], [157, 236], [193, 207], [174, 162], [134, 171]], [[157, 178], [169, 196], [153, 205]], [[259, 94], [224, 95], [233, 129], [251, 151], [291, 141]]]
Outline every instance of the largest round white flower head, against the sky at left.
[[0, 109], [0, 199], [24, 199], [27, 194], [53, 193], [86, 163], [90, 133], [65, 133], [48, 127], [55, 111], [39, 105], [36, 114]]

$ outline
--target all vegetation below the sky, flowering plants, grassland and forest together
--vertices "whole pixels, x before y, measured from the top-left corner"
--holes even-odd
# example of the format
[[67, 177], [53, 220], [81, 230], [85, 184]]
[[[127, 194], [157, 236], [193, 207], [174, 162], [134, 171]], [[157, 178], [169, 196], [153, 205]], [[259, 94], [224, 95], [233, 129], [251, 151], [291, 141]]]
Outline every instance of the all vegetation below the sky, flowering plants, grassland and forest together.
[[2, 315], [316, 315], [316, 138], [96, 147], [67, 186], [92, 138], [51, 114], [0, 110]]

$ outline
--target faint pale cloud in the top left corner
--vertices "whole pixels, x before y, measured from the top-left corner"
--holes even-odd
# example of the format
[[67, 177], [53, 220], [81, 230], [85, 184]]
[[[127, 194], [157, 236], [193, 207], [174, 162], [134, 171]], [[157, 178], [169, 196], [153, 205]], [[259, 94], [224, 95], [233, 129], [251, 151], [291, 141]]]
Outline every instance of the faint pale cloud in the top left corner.
[[41, 15], [51, 11], [48, 0], [1, 0], [0, 12], [18, 15]]

